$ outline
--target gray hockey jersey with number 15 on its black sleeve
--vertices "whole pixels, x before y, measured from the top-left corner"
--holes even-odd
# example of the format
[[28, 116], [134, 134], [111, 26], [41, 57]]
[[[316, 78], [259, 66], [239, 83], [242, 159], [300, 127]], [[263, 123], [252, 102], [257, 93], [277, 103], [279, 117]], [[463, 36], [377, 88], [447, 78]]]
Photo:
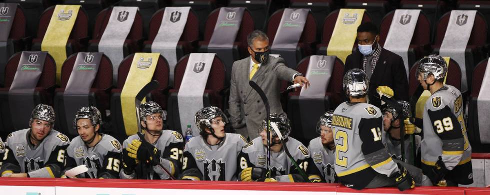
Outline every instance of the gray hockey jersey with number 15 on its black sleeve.
[[119, 178], [122, 147], [112, 136], [100, 134], [102, 138], [93, 147], [88, 148], [80, 136], [71, 140], [66, 150], [65, 171], [79, 165], [85, 165], [88, 171], [77, 178]]

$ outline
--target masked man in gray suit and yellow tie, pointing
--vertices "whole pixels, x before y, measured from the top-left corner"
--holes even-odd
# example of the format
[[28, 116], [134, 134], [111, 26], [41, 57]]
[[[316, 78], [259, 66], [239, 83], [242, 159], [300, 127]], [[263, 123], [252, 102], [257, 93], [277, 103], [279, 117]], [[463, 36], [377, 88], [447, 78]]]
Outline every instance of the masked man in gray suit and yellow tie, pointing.
[[271, 114], [284, 115], [280, 105], [281, 80], [299, 83], [305, 88], [309, 86], [309, 81], [301, 73], [285, 66], [284, 59], [269, 57], [269, 39], [262, 31], [255, 30], [248, 34], [247, 43], [250, 57], [235, 61], [231, 70], [229, 114], [236, 133], [252, 140], [258, 137], [260, 125], [265, 119], [265, 107], [248, 81], [255, 81], [265, 92]]

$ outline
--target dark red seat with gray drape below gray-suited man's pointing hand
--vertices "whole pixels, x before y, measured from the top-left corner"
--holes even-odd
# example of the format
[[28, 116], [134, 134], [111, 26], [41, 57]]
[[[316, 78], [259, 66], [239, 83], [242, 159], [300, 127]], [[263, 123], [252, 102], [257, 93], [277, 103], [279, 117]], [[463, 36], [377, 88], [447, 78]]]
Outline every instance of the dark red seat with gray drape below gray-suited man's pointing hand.
[[[306, 75], [308, 69], [309, 58], [305, 57], [297, 64], [296, 71]], [[333, 64], [332, 75], [328, 83], [328, 87], [325, 91], [324, 111], [335, 109], [340, 103], [342, 103], [342, 81], [343, 81], [343, 70], [344, 64], [342, 60], [335, 58], [335, 63]], [[287, 116], [291, 120], [291, 126], [293, 131], [291, 132], [291, 137], [299, 140], [302, 143], [308, 143], [309, 140], [318, 136], [315, 131], [302, 129], [300, 116], [306, 115], [308, 113], [299, 112], [299, 93], [301, 91], [293, 91], [288, 94], [287, 97]], [[308, 100], [314, 101], [314, 100]], [[319, 119], [319, 116], [311, 116]]]

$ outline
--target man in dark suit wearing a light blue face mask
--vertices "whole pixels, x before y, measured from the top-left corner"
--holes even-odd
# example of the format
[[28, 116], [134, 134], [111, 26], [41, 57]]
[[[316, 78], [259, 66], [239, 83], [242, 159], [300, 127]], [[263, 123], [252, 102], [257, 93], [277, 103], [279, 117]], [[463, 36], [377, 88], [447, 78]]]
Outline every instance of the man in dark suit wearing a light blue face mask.
[[378, 86], [393, 89], [396, 100], [408, 101], [408, 80], [403, 59], [379, 45], [379, 32], [371, 22], [362, 23], [357, 28], [357, 51], [348, 55], [345, 60], [345, 73], [352, 68], [366, 72], [369, 78], [370, 100]]

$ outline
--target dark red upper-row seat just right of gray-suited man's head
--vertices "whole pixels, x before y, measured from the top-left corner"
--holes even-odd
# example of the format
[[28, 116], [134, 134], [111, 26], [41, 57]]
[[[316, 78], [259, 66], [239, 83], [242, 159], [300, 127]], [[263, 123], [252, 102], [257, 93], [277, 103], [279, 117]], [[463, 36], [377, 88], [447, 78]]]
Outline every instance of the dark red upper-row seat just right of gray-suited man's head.
[[[267, 37], [269, 38], [269, 46], [272, 46], [274, 42], [275, 33], [277, 32], [277, 28], [279, 27], [280, 19], [282, 17], [282, 13], [284, 9], [279, 9], [275, 11], [272, 15], [270, 15], [269, 20], [267, 21]], [[306, 23], [304, 24], [303, 32], [299, 38], [299, 41], [296, 46], [296, 62], [287, 62], [288, 66], [294, 66], [297, 64], [300, 59], [303, 59], [305, 56], [309, 56], [314, 53], [314, 45], [316, 44], [316, 22], [311, 12], [308, 12], [308, 16], [306, 18]]]

